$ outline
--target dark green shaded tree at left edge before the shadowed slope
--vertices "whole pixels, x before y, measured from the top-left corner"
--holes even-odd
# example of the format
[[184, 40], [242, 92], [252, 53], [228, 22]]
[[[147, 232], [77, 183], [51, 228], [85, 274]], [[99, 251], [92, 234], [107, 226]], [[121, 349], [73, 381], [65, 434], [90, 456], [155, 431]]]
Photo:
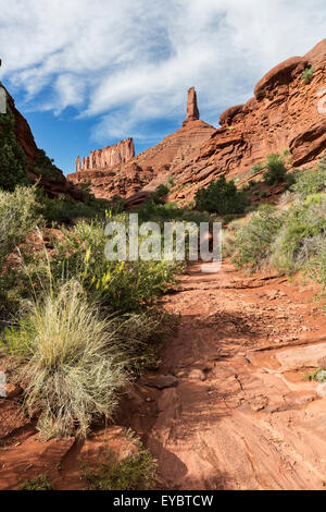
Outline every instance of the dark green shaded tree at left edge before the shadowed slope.
[[16, 185], [28, 183], [28, 162], [14, 133], [14, 115], [7, 106], [0, 114], [0, 187], [13, 191]]

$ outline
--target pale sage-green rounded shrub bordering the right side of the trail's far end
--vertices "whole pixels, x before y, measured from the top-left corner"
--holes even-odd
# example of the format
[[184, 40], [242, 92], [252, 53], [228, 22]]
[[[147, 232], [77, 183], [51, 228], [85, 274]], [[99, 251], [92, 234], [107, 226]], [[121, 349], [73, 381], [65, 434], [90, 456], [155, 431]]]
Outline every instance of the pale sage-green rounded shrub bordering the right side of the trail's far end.
[[262, 205], [239, 225], [234, 240], [234, 263], [256, 270], [268, 263], [272, 244], [283, 224], [283, 214], [275, 207]]

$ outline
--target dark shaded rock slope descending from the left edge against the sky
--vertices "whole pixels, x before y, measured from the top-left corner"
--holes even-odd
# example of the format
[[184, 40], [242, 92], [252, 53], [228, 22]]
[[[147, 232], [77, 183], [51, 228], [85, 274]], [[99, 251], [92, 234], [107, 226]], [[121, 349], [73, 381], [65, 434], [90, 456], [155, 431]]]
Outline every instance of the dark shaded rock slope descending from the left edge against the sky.
[[[24, 160], [26, 179], [32, 183], [36, 181], [39, 182], [39, 185], [50, 197], [67, 194], [75, 199], [82, 199], [83, 195], [65, 179], [63, 172], [46, 157], [45, 151], [37, 147], [26, 119], [16, 109], [13, 97], [7, 89], [4, 90], [7, 93], [8, 114], [1, 115], [11, 115], [13, 118], [14, 137], [26, 157]], [[8, 130], [8, 127], [5, 127], [5, 130]], [[0, 172], [4, 170], [8, 172], [4, 162], [0, 162]], [[12, 170], [10, 172], [12, 172]], [[14, 176], [12, 178], [11, 181], [14, 183]], [[11, 181], [9, 180], [9, 182]]]

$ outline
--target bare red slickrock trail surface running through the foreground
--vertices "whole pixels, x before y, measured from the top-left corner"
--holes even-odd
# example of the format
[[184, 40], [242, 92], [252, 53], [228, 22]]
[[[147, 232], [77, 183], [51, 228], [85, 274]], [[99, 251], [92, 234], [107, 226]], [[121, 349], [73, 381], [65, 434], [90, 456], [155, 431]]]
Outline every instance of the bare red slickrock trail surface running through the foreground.
[[[162, 489], [324, 489], [325, 398], [304, 376], [326, 354], [326, 316], [300, 280], [200, 265], [163, 300], [178, 334], [136, 386], [122, 422], [159, 461]], [[322, 385], [323, 386], [323, 385]]]

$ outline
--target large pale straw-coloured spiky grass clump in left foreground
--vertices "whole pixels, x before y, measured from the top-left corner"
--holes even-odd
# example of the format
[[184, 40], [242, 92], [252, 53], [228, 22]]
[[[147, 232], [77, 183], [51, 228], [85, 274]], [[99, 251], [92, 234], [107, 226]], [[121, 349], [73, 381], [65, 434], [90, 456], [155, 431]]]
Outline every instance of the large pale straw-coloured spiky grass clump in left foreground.
[[100, 317], [77, 281], [30, 302], [1, 346], [17, 361], [16, 381], [26, 407], [41, 412], [45, 439], [86, 436], [96, 417], [112, 416], [127, 355], [113, 320]]

